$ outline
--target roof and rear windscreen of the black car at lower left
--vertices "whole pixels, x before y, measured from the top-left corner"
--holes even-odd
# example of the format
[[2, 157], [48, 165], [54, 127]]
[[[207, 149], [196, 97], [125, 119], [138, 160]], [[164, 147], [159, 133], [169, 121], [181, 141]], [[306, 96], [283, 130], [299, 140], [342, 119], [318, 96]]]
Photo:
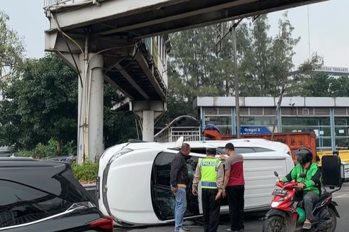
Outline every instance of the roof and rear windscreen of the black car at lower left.
[[31, 186], [66, 201], [81, 202], [94, 199], [83, 189], [66, 162], [42, 161], [33, 158], [0, 158], [1, 181]]

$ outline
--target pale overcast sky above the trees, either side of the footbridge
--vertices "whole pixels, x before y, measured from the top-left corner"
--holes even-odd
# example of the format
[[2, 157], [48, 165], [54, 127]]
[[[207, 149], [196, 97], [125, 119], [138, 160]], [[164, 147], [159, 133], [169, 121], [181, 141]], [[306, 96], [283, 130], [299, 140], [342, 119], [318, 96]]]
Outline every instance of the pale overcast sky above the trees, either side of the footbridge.
[[[293, 36], [301, 36], [301, 41], [295, 48], [294, 65], [303, 63], [309, 57], [308, 8], [311, 53], [323, 56], [326, 66], [348, 68], [348, 0], [330, 0], [288, 9], [288, 19], [295, 28]], [[10, 16], [9, 26], [24, 37], [26, 56], [43, 57], [43, 31], [49, 26], [43, 11], [43, 0], [0, 0], [0, 11], [5, 11]], [[278, 19], [283, 13], [284, 11], [277, 11], [269, 14], [271, 36], [278, 33]]]

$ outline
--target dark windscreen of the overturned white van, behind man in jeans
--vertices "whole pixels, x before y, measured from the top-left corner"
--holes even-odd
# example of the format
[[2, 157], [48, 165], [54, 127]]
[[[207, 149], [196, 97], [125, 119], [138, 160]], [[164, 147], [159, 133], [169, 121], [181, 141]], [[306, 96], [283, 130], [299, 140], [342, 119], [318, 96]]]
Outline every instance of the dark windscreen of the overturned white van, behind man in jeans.
[[[161, 152], [155, 158], [152, 167], [152, 206], [157, 218], [161, 221], [175, 218], [175, 194], [170, 189], [171, 162], [175, 153]], [[198, 157], [187, 157], [188, 179], [187, 186], [187, 211], [185, 216], [199, 215], [199, 203], [197, 197], [192, 194], [192, 181], [197, 167]]]

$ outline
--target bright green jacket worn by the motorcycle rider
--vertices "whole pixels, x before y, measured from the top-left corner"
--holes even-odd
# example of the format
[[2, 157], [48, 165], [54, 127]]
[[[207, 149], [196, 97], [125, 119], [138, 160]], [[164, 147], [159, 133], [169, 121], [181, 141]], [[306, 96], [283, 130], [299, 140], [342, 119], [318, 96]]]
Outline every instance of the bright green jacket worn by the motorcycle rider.
[[321, 172], [318, 168], [318, 165], [311, 162], [311, 165], [307, 169], [304, 169], [301, 164], [296, 164], [295, 167], [288, 173], [285, 177], [281, 178], [281, 181], [292, 181], [293, 179], [297, 182], [303, 182], [303, 178], [299, 177], [301, 173], [306, 174], [304, 178], [304, 192], [314, 191], [317, 194], [320, 193], [320, 184], [321, 184]]

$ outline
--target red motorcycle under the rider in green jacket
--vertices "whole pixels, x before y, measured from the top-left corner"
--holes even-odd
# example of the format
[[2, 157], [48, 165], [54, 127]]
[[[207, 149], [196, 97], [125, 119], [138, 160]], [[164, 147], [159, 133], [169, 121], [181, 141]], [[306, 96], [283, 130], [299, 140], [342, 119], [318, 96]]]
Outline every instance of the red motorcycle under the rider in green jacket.
[[[274, 172], [278, 177], [278, 173]], [[306, 174], [301, 173], [301, 178], [305, 178]], [[263, 225], [263, 232], [294, 232], [301, 229], [306, 220], [306, 213], [302, 209], [302, 199], [298, 196], [298, 187], [296, 181], [282, 182], [278, 178], [276, 183], [280, 189], [274, 189], [274, 199], [271, 202], [271, 210], [266, 213], [266, 220]], [[314, 204], [313, 215], [316, 218], [312, 222], [311, 232], [333, 232], [337, 225], [337, 217], [339, 213], [335, 206], [338, 206], [335, 201], [332, 201], [332, 194], [335, 191], [324, 190], [320, 199]], [[303, 196], [303, 194], [301, 194]], [[296, 204], [296, 202], [298, 202]], [[295, 206], [296, 205], [296, 206]]]

